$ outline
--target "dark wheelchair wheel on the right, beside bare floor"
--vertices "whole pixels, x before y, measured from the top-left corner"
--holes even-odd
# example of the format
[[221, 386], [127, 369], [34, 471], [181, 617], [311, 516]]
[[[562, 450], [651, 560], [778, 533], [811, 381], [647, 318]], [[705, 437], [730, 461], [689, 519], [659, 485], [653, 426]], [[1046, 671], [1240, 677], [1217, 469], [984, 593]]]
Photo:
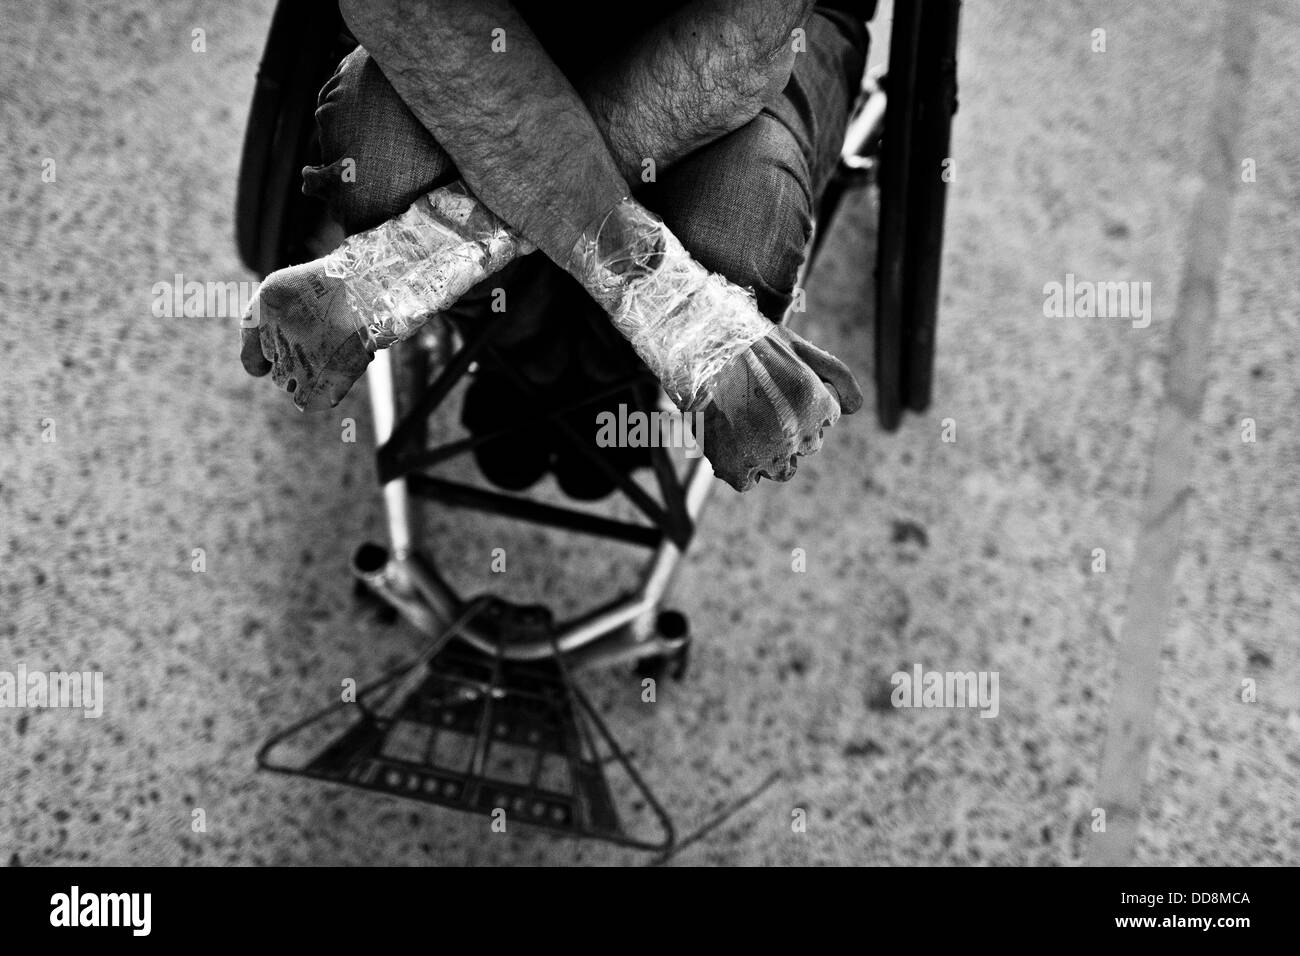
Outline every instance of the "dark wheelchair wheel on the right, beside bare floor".
[[880, 153], [876, 406], [880, 425], [930, 407], [961, 0], [894, 8]]

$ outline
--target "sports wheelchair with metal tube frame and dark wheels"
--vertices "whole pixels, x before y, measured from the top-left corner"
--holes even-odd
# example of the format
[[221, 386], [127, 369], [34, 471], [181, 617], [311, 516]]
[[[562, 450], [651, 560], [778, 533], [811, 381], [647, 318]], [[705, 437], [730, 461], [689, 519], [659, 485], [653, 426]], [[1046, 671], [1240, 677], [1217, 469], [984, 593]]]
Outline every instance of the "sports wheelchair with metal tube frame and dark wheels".
[[[878, 185], [874, 377], [885, 431], [898, 428], [905, 411], [930, 405], [959, 5], [897, 0], [888, 72], [863, 77], [840, 163], [816, 207], [800, 282], [802, 287], [815, 269], [845, 195]], [[343, 238], [324, 206], [302, 194], [299, 174], [320, 161], [317, 92], [355, 46], [334, 4], [280, 0], [257, 72], [235, 211], [240, 259], [263, 277], [324, 255]], [[666, 601], [712, 472], [707, 459], [682, 466], [663, 447], [645, 449], [629, 467], [611, 460], [612, 450], [593, 447], [573, 427], [575, 415], [614, 399], [647, 414], [671, 407], [634, 356], [618, 375], [589, 382], [585, 394], [556, 401], [506, 360], [494, 341], [497, 321], [458, 326], [436, 317], [416, 338], [378, 351], [367, 372], [387, 542], [358, 548], [352, 572], [361, 593], [424, 636], [424, 649], [356, 691], [355, 700], [276, 732], [257, 762], [266, 770], [670, 853], [676, 845], [671, 814], [578, 678], [616, 665], [630, 665], [642, 678], [682, 676], [690, 628]], [[472, 424], [469, 389], [486, 375], [508, 381], [534, 414], [514, 427], [471, 428], [465, 437], [430, 444], [432, 433], [447, 431], [445, 421], [437, 428], [430, 423], [439, 410], [446, 418], [458, 386], [465, 393], [463, 424]], [[495, 489], [433, 473], [467, 457], [486, 472], [482, 466], [493, 447], [538, 429], [595, 479], [594, 493], [577, 490], [575, 497], [620, 492], [641, 520], [508, 493], [529, 483], [499, 473]], [[649, 481], [634, 480], [634, 471], [649, 472], [658, 494]], [[421, 502], [621, 542], [649, 557], [634, 587], [556, 620], [542, 604], [458, 593], [422, 540]], [[306, 760], [281, 760], [277, 754], [286, 748]], [[624, 790], [640, 797], [636, 803], [656, 836], [646, 835], [646, 826], [630, 826], [620, 812], [607, 773], [614, 769], [621, 770]]]

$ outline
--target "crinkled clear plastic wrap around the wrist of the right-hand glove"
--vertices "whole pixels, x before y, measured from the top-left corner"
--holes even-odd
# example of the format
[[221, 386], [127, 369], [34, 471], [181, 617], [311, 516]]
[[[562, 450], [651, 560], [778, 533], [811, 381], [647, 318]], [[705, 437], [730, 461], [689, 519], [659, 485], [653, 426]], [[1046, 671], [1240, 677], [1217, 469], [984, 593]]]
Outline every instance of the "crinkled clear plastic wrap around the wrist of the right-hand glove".
[[776, 328], [630, 198], [578, 239], [571, 272], [682, 411], [707, 405], [723, 368]]

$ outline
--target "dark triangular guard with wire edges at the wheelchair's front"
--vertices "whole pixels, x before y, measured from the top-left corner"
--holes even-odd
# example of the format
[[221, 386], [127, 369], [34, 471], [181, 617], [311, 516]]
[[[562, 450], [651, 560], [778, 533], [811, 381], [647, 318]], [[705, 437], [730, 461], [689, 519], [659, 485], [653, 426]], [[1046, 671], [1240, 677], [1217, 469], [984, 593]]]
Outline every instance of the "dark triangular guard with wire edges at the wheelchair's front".
[[[498, 648], [552, 630], [545, 607], [478, 598], [413, 663], [360, 689], [355, 702], [328, 708], [268, 740], [259, 766], [480, 814], [497, 831], [521, 822], [668, 852], [671, 818], [573, 683], [564, 657], [514, 661], [451, 640], [471, 619], [480, 633], [497, 637]], [[295, 747], [322, 735], [329, 740], [322, 747]], [[313, 756], [291, 766], [272, 758], [281, 749]], [[658, 840], [625, 827], [606, 777], [611, 766], [621, 767], [649, 808]]]

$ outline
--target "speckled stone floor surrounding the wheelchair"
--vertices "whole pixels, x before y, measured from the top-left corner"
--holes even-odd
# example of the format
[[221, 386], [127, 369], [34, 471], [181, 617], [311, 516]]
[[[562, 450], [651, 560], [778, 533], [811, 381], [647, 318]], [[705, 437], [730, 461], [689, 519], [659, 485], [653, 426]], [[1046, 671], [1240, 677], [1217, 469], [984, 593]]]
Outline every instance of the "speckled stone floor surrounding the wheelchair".
[[[1257, 178], [1226, 239], [1149, 864], [1300, 862], [1300, 8], [1261, 5]], [[176, 273], [256, 278], [231, 209], [270, 7], [5, 13], [0, 670], [100, 670], [107, 701], [98, 721], [0, 711], [0, 860], [641, 862], [254, 769], [273, 728], [417, 646], [351, 597], [350, 551], [382, 537], [364, 390], [299, 415], [243, 373], [233, 320], [151, 315]], [[868, 406], [790, 484], [719, 486], [675, 598], [689, 676], [653, 705], [629, 674], [589, 682], [682, 832], [753, 795], [677, 862], [1083, 858], [1222, 8], [966, 4], [933, 407], [884, 434]], [[874, 217], [850, 202], [806, 323], [863, 378]], [[1044, 319], [1066, 273], [1149, 281], [1150, 326]], [[456, 522], [436, 519], [443, 559], [486, 566], [497, 532]], [[523, 540], [517, 593], [603, 580], [594, 551]], [[998, 715], [890, 708], [918, 662], [998, 671]]]

